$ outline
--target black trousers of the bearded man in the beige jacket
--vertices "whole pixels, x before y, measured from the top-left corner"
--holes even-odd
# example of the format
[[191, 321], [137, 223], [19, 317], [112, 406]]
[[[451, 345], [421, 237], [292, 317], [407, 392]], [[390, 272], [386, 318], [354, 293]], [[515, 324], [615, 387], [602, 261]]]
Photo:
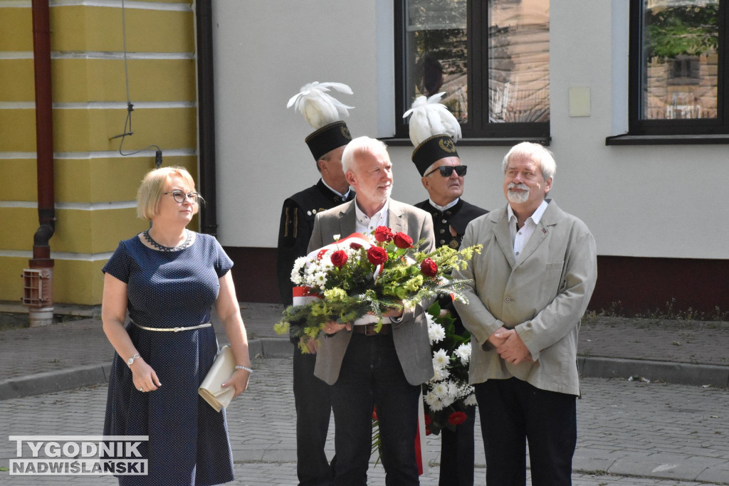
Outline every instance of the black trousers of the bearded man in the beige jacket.
[[532, 486], [572, 485], [577, 445], [574, 395], [536, 388], [518, 378], [475, 385], [486, 484], [526, 485], [526, 442]]

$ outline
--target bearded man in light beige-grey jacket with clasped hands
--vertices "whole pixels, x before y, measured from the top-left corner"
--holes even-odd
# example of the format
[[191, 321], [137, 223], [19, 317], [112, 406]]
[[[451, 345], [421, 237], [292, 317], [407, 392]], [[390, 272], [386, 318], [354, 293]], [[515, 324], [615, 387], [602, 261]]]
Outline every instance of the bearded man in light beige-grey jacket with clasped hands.
[[456, 302], [472, 335], [469, 379], [480, 409], [486, 482], [570, 485], [577, 443], [577, 332], [597, 279], [588, 227], [545, 200], [555, 162], [523, 142], [504, 157], [507, 205], [474, 219], [463, 246], [483, 251], [456, 278]]

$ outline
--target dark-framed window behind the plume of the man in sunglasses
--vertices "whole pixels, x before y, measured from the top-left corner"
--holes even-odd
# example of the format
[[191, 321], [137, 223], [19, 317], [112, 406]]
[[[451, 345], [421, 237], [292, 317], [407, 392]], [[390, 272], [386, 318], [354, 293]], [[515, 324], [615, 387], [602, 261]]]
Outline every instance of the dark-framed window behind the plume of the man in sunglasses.
[[397, 0], [396, 121], [415, 98], [442, 103], [464, 140], [549, 140], [549, 0]]

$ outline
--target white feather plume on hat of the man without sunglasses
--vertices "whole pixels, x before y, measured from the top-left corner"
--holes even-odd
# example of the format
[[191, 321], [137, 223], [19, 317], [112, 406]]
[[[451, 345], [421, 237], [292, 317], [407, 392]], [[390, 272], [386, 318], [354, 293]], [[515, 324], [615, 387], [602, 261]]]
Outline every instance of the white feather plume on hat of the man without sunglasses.
[[327, 93], [330, 88], [340, 93], [352, 94], [350, 87], [340, 82], [310, 82], [289, 99], [286, 108], [294, 106], [294, 109], [300, 111], [313, 128], [318, 129], [330, 123], [339, 122], [349, 116], [348, 109], [353, 109], [354, 106], [346, 106], [333, 98]]

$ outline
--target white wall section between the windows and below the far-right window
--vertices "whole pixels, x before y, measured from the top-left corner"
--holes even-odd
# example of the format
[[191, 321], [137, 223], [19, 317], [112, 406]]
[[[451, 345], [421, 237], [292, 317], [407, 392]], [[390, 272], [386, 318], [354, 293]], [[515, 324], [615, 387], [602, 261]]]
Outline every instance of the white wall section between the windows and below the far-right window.
[[[627, 4], [551, 2], [555, 200], [588, 224], [600, 254], [728, 258], [727, 146], [605, 146], [627, 128]], [[569, 117], [571, 86], [590, 87], [590, 117]]]

